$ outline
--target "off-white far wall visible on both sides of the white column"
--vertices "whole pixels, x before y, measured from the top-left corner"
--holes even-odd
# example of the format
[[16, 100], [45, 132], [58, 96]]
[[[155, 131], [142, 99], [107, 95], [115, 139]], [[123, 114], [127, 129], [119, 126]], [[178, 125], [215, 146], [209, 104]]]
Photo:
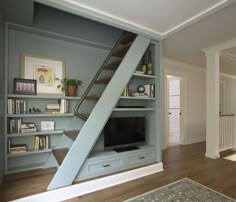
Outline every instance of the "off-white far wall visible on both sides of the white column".
[[[206, 138], [206, 71], [201, 67], [164, 58], [164, 71], [186, 75], [186, 121], [184, 144]], [[236, 114], [236, 77], [221, 74], [224, 83], [224, 114]]]

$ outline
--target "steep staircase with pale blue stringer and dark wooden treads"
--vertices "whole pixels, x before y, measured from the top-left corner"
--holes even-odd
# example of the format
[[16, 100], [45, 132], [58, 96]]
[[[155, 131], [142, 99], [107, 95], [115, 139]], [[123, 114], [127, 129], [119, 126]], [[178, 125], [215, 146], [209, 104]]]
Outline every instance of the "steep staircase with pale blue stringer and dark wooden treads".
[[[74, 143], [71, 148], [53, 150], [53, 155], [60, 166], [49, 184], [48, 190], [72, 184], [149, 43], [150, 39], [142, 36], [136, 37], [132, 33], [125, 32], [114, 45], [75, 107], [75, 116], [70, 128], [76, 130], [64, 132]], [[107, 72], [112, 74], [107, 74]], [[89, 95], [92, 92], [91, 89], [96, 85], [103, 86], [99, 89], [101, 92]], [[96, 101], [91, 112], [80, 111], [83, 108], [81, 106], [91, 100]], [[78, 117], [85, 121], [80, 131], [77, 130], [79, 129]]]

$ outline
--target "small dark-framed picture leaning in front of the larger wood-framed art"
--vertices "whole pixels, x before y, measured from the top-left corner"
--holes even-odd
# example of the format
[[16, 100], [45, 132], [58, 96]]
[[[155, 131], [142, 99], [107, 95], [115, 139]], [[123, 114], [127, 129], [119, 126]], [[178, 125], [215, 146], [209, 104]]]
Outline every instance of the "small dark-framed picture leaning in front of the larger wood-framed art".
[[37, 81], [32, 79], [14, 78], [14, 94], [36, 95]]

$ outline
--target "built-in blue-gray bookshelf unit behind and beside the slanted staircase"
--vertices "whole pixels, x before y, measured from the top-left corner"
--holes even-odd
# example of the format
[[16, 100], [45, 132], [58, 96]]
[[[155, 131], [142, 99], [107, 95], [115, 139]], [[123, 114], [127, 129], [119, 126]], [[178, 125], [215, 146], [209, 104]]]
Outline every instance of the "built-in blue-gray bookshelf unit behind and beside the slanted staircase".
[[[37, 107], [39, 108], [41, 111], [43, 111], [43, 109], [45, 108], [46, 104], [48, 103], [57, 103], [59, 99], [67, 99], [69, 101], [69, 113], [62, 113], [62, 114], [43, 114], [43, 113], [38, 113], [38, 114], [7, 114], [7, 110], [5, 111], [5, 115], [4, 115], [4, 125], [5, 125], [5, 145], [7, 147], [7, 140], [11, 139], [11, 141], [14, 144], [21, 144], [21, 143], [25, 143], [27, 145], [29, 145], [29, 149], [27, 152], [22, 152], [22, 153], [15, 153], [15, 154], [8, 154], [7, 151], [5, 153], [6, 156], [6, 168], [5, 168], [5, 173], [14, 173], [14, 172], [20, 172], [20, 171], [25, 171], [25, 170], [32, 170], [32, 169], [37, 169], [37, 168], [45, 168], [45, 164], [48, 161], [48, 159], [50, 158], [50, 156], [52, 155], [52, 148], [55, 148], [56, 145], [58, 145], [58, 143], [60, 143], [61, 147], [64, 147], [65, 144], [71, 146], [72, 141], [70, 142], [69, 140], [66, 140], [68, 142], [64, 142], [64, 135], [63, 132], [65, 130], [69, 130], [70, 128], [68, 128], [69, 123], [71, 122], [74, 113], [73, 113], [73, 109], [74, 106], [76, 105], [76, 103], [78, 102], [78, 100], [80, 100], [80, 96], [77, 97], [67, 97], [67, 96], [42, 96], [42, 95], [15, 95], [13, 94], [13, 87], [12, 87], [12, 80], [13, 78], [17, 78], [20, 77], [20, 54], [23, 52], [23, 50], [27, 50], [28, 52], [38, 52], [39, 55], [43, 55], [43, 53], [45, 52], [45, 50], [47, 50], [49, 53], [48, 55], [52, 55], [53, 56], [53, 51], [55, 51], [55, 47], [57, 47], [58, 43], [60, 43], [60, 40], [62, 40], [62, 44], [67, 45], [67, 42], [69, 41], [69, 45], [67, 46], [67, 49], [69, 49], [68, 47], [71, 46], [71, 43], [76, 43], [76, 46], [79, 46], [81, 41], [80, 40], [76, 40], [75, 38], [70, 38], [70, 37], [66, 37], [66, 36], [62, 36], [62, 35], [56, 35], [56, 42], [54, 41], [54, 33], [51, 32], [43, 32], [42, 30], [37, 30], [37, 29], [33, 29], [33, 28], [27, 28], [24, 26], [17, 26], [17, 25], [10, 25], [8, 27], [8, 31], [11, 31], [11, 36], [10, 37], [14, 37], [15, 34], [17, 34], [17, 32], [21, 33], [21, 37], [24, 38], [24, 34], [26, 36], [31, 35], [32, 39], [34, 41], [32, 41], [32, 43], [30, 43], [30, 41], [28, 43], [25, 44], [21, 44], [22, 46], [25, 47], [14, 47], [14, 44], [12, 42], [11, 43], [7, 43], [7, 45], [9, 45], [9, 47], [6, 48], [6, 52], [7, 55], [9, 55], [8, 61], [6, 61], [6, 78], [8, 78], [8, 80], [6, 81], [6, 93], [4, 95], [4, 99], [5, 99], [5, 103], [7, 104], [7, 99], [12, 98], [12, 99], [23, 99], [27, 101], [27, 107], [32, 108], [32, 107]], [[14, 33], [14, 31], [16, 31], [16, 33]], [[42, 35], [42, 36], [41, 36]], [[46, 41], [44, 41], [44, 43], [42, 43], [42, 48], [41, 46], [39, 47], [38, 44], [40, 43], [40, 41], [38, 42], [38, 36], [40, 36], [40, 40], [43, 41], [43, 39]], [[17, 39], [17, 37], [14, 38], [14, 40]], [[25, 39], [25, 38], [24, 38]], [[12, 40], [11, 38], [9, 40]], [[54, 46], [50, 46], [51, 41], [53, 42], [52, 44]], [[31, 50], [31, 47], [27, 47], [27, 44], [31, 44], [31, 47], [34, 47], [35, 50]], [[158, 45], [156, 45], [158, 44]], [[91, 45], [91, 44], [90, 44]], [[89, 46], [90, 49], [92, 49], [92, 53], [96, 54], [97, 51], [97, 57], [94, 58], [102, 58], [101, 56], [104, 55], [104, 57], [107, 55], [107, 51], [101, 51], [101, 50], [97, 50], [99, 47], [99, 44], [94, 44], [94, 47], [91, 48], [91, 46]], [[45, 49], [44, 49], [45, 46]], [[160, 44], [158, 42], [152, 42], [150, 44], [150, 49], [153, 49], [153, 55], [157, 55], [159, 56], [159, 52], [155, 52], [155, 49], [159, 50], [159, 46]], [[74, 47], [73, 47], [74, 48]], [[110, 47], [104, 47], [106, 50], [110, 49]], [[88, 49], [88, 51], [90, 50]], [[59, 49], [58, 49], [59, 50]], [[77, 53], [77, 51], [74, 51], [71, 53], [65, 53], [62, 52], [62, 56], [67, 58], [67, 69], [66, 69], [66, 73], [68, 74], [67, 76], [71, 77], [73, 75], [76, 75], [78, 72], [78, 55], [83, 55], [83, 52], [79, 52], [77, 53], [76, 56], [74, 56], [73, 59], [71, 59], [71, 55], [73, 55], [74, 53]], [[64, 55], [65, 54], [65, 55]], [[88, 55], [88, 56], [87, 56]], [[118, 55], [120, 56], [120, 53], [118, 53]], [[87, 57], [85, 59], [83, 58], [79, 58], [80, 59], [80, 68], [79, 69], [79, 74], [81, 74], [80, 78], [83, 78], [83, 82], [84, 81], [89, 81], [92, 79], [93, 74], [95, 73], [95, 70], [93, 70], [92, 68], [94, 68], [94, 66], [96, 66], [96, 64], [98, 63], [98, 61], [92, 61], [91, 60], [91, 55], [86, 54], [83, 55], [83, 57]], [[155, 58], [153, 56], [153, 58]], [[85, 62], [89, 62], [89, 64], [86, 64]], [[156, 60], [159, 60], [158, 57]], [[117, 61], [118, 63], [120, 62], [120, 59], [118, 59]], [[90, 64], [92, 63], [92, 64]], [[116, 63], [116, 62], [114, 62]], [[158, 64], [158, 61], [153, 60], [154, 64]], [[116, 65], [116, 64], [115, 64]], [[140, 69], [140, 65], [137, 67], [137, 70]], [[87, 68], [83, 68], [83, 67], [88, 67], [91, 68], [89, 70], [87, 70]], [[107, 67], [108, 69], [111, 67]], [[152, 155], [152, 158], [150, 161], [146, 162], [146, 161], [140, 161], [139, 164], [137, 164], [137, 166], [142, 166], [145, 165], [146, 163], [154, 163], [157, 161], [160, 161], [160, 152], [158, 152], [158, 144], [159, 144], [159, 140], [156, 137], [157, 131], [158, 131], [158, 124], [156, 124], [158, 122], [158, 117], [157, 114], [159, 113], [159, 65], [156, 65], [153, 67], [153, 74], [152, 75], [147, 75], [147, 74], [140, 74], [140, 73], [133, 73], [131, 76], [131, 80], [130, 80], [130, 89], [135, 92], [137, 89], [138, 85], [145, 85], [145, 84], [155, 84], [156, 85], [156, 95], [155, 97], [133, 97], [133, 96], [120, 96], [119, 102], [117, 103], [117, 106], [113, 109], [113, 113], [111, 116], [145, 116], [147, 118], [147, 145], [143, 145], [140, 149], [140, 151], [136, 151], [136, 152], [128, 152], [128, 153], [123, 153], [123, 154], [117, 154], [114, 152], [107, 152], [104, 151], [104, 147], [103, 147], [103, 139], [102, 137], [98, 139], [98, 142], [95, 145], [95, 148], [92, 150], [91, 155], [88, 157], [88, 159], [85, 162], [85, 165], [90, 165], [90, 163], [94, 163], [94, 165], [96, 165], [98, 162], [100, 161], [104, 161], [109, 163], [109, 159], [113, 158], [114, 156], [119, 156], [119, 159], [124, 160], [124, 164], [121, 167], [119, 167], [119, 169], [115, 170], [115, 171], [120, 171], [122, 169], [127, 169], [127, 168], [131, 168], [134, 167], [134, 165], [131, 165], [131, 163], [128, 162], [128, 157], [132, 158], [133, 154], [137, 154], [137, 158], [142, 154], [144, 155], [144, 153], [146, 151], [150, 152]], [[108, 70], [109, 71], [109, 70]], [[89, 77], [90, 76], [90, 77]], [[107, 80], [109, 80], [109, 78], [107, 78]], [[101, 81], [101, 83], [106, 83], [107, 80]], [[87, 83], [83, 84], [83, 85], [87, 85]], [[81, 91], [83, 92], [84, 89], [82, 89]], [[81, 91], [79, 92], [79, 95], [82, 95]], [[95, 99], [95, 98], [94, 98]], [[97, 98], [96, 98], [97, 99]], [[93, 102], [93, 101], [92, 101]], [[126, 108], [120, 108], [119, 106], [130, 106], [130, 107], [126, 107]], [[143, 108], [139, 108], [139, 107], [135, 107], [135, 106], [142, 106]], [[7, 105], [5, 105], [7, 106]], [[89, 108], [90, 106], [88, 106]], [[29, 122], [29, 121], [33, 121], [37, 126], [40, 124], [41, 120], [53, 120], [55, 121], [55, 130], [54, 131], [40, 131], [38, 130], [37, 132], [33, 132], [33, 133], [8, 133], [7, 132], [7, 120], [11, 119], [11, 118], [21, 118], [23, 121]], [[78, 127], [82, 127], [84, 124], [83, 121], [78, 123]], [[79, 129], [79, 128], [78, 128]], [[35, 136], [43, 136], [43, 135], [47, 135], [49, 136], [50, 139], [50, 147], [49, 149], [44, 149], [44, 150], [33, 150], [33, 144], [34, 144], [34, 137]], [[63, 140], [63, 141], [62, 141]], [[63, 145], [64, 144], [64, 145]], [[68, 148], [69, 148], [68, 146]], [[99, 155], [95, 155], [98, 154]], [[126, 155], [128, 154], [128, 155]], [[158, 156], [159, 155], [159, 156]], [[136, 158], [136, 157], [135, 157]], [[112, 160], [111, 160], [112, 161]], [[126, 165], [127, 164], [127, 165]], [[57, 166], [56, 164], [51, 164], [49, 165], [49, 167], [53, 167], [53, 166]], [[135, 164], [136, 166], [136, 164]], [[47, 166], [46, 166], [47, 167]], [[88, 177], [93, 177], [93, 176], [98, 176], [99, 175], [103, 175], [106, 173], [110, 173], [113, 172], [114, 170], [107, 170], [104, 172], [97, 172], [96, 174], [84, 174], [83, 172], [81, 173], [81, 177], [79, 176], [79, 179], [86, 179]]]

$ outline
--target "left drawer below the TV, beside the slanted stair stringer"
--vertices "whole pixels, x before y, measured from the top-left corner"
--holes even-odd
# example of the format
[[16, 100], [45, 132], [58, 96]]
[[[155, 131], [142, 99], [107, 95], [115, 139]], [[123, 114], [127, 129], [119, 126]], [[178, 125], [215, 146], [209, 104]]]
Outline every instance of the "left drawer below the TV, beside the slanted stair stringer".
[[115, 172], [124, 168], [121, 157], [109, 158], [96, 161], [85, 161], [78, 177], [84, 179], [88, 177], [95, 177], [107, 173]]

